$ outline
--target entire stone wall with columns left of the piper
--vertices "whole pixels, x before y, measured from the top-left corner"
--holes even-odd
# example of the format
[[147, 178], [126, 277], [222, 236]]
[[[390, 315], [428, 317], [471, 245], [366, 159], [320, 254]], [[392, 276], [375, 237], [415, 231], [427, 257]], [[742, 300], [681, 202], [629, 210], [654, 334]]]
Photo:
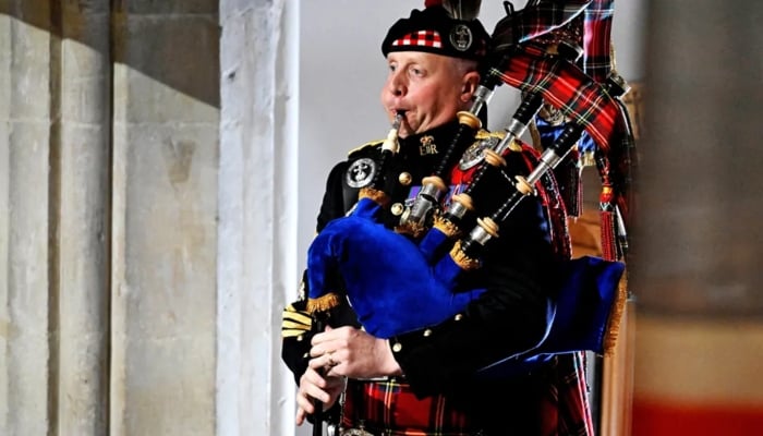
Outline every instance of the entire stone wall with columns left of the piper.
[[0, 434], [290, 432], [284, 8], [0, 1]]

